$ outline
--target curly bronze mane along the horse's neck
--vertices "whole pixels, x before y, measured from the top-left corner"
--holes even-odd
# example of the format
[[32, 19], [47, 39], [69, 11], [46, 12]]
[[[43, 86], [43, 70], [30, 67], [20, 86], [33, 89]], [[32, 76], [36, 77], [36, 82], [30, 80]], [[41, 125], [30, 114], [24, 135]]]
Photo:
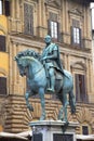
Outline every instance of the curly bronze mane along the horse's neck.
[[33, 56], [35, 59], [38, 59], [40, 61], [40, 54], [35, 52], [33, 50], [27, 49], [25, 51], [18, 52], [18, 54], [16, 55], [17, 59], [19, 59], [22, 56]]

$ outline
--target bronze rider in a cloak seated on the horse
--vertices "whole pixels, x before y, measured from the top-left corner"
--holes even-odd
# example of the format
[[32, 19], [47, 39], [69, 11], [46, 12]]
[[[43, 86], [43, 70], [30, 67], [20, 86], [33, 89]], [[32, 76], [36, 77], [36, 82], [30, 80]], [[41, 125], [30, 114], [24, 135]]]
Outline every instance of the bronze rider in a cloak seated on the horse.
[[41, 60], [45, 68], [46, 78], [49, 79], [48, 91], [54, 92], [55, 69], [59, 69], [63, 73], [59, 50], [57, 44], [51, 42], [51, 36], [45, 36], [44, 41], [46, 46], [43, 49]]

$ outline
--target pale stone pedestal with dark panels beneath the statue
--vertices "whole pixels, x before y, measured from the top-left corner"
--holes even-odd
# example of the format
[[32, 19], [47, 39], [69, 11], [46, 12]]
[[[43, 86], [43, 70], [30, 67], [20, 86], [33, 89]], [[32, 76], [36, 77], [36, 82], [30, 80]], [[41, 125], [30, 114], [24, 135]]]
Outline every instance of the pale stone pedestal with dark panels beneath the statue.
[[76, 141], [77, 123], [69, 123], [67, 128], [61, 120], [29, 123], [32, 129], [31, 141]]

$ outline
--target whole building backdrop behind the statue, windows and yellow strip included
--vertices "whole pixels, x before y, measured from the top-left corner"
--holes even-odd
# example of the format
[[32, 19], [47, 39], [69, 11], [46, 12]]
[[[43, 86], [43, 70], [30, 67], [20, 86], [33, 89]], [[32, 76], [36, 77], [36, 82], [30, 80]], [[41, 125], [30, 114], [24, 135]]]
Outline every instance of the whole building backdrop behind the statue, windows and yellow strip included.
[[[44, 36], [59, 46], [65, 69], [73, 76], [77, 101], [77, 133], [94, 133], [94, 80], [92, 33], [89, 0], [0, 0], [0, 129], [10, 132], [28, 130], [28, 123], [39, 119], [40, 99], [25, 103], [26, 78], [19, 76], [14, 56], [31, 49], [41, 53]], [[45, 94], [46, 119], [56, 119], [61, 102]]]

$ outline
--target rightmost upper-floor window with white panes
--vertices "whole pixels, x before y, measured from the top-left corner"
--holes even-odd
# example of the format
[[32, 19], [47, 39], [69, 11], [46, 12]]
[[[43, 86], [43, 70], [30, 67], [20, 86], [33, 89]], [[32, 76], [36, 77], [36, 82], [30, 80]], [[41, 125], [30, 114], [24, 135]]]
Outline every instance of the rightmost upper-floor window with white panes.
[[72, 21], [71, 27], [71, 43], [76, 46], [81, 46], [81, 29], [79, 25], [79, 21]]

